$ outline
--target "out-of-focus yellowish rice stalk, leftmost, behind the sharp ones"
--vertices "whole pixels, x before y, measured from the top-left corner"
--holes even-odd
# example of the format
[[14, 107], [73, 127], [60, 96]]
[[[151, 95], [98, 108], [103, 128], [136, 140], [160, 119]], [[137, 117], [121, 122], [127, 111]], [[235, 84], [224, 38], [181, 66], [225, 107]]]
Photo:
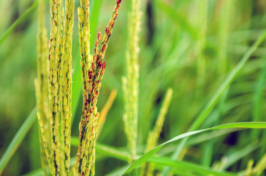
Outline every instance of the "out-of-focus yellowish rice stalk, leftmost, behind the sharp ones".
[[[47, 31], [44, 26], [44, 9], [45, 5], [43, 0], [39, 1], [39, 23], [37, 32], [37, 78], [34, 80], [35, 90], [36, 90], [36, 103], [37, 109], [42, 117], [42, 122], [44, 123], [45, 135], [51, 138], [51, 134], [48, 129], [50, 129], [50, 120], [48, 113], [48, 46], [47, 46]], [[42, 138], [40, 135], [40, 144], [42, 143]], [[50, 141], [47, 141], [47, 146], [51, 146]], [[48, 163], [46, 159], [45, 147], [41, 144], [41, 165], [45, 171]], [[45, 175], [48, 173], [45, 172]]]

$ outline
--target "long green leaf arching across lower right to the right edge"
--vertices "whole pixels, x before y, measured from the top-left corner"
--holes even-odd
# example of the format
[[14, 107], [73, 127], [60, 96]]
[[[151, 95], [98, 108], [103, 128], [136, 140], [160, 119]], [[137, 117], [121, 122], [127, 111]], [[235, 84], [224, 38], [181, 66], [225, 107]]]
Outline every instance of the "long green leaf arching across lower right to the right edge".
[[216, 127], [212, 127], [209, 129], [204, 129], [204, 130], [198, 130], [198, 131], [193, 131], [193, 132], [186, 132], [184, 134], [180, 134], [164, 143], [161, 145], [153, 148], [146, 154], [143, 154], [141, 157], [139, 157], [132, 165], [130, 165], [125, 171], [123, 171], [119, 176], [122, 176], [126, 173], [129, 173], [132, 171], [134, 168], [145, 162], [147, 159], [149, 159], [152, 155], [156, 154], [164, 145], [174, 142], [176, 140], [197, 134], [199, 132], [205, 132], [205, 131], [210, 131], [210, 130], [217, 130], [217, 129], [227, 129], [227, 128], [266, 128], [266, 122], [239, 122], [239, 123], [231, 123], [231, 124], [225, 124], [225, 125], [219, 125]]

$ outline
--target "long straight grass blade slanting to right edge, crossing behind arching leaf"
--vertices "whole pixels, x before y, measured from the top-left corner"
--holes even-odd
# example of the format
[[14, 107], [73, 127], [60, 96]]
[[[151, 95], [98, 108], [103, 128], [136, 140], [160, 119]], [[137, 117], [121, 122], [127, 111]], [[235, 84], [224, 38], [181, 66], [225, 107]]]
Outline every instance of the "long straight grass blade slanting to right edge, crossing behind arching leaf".
[[[193, 123], [189, 127], [188, 132], [196, 130], [203, 123], [203, 121], [207, 118], [207, 116], [216, 106], [217, 102], [219, 101], [224, 91], [231, 85], [236, 75], [239, 73], [241, 68], [243, 68], [243, 66], [245, 65], [251, 54], [259, 47], [259, 45], [264, 41], [265, 38], [266, 38], [266, 30], [260, 35], [260, 37], [255, 41], [255, 43], [252, 44], [252, 46], [247, 50], [245, 55], [239, 61], [238, 65], [231, 71], [231, 73], [227, 76], [222, 85], [213, 94], [210, 101], [207, 103], [204, 109], [200, 112], [199, 116], [196, 118], [195, 121], [193, 121]], [[176, 159], [179, 156], [184, 145], [186, 144], [186, 140], [187, 138], [184, 138], [181, 141], [181, 143], [177, 146], [176, 152], [171, 155], [172, 159]], [[169, 171], [170, 171], [169, 168], [165, 168], [165, 170], [163, 171], [163, 176], [168, 176]]]

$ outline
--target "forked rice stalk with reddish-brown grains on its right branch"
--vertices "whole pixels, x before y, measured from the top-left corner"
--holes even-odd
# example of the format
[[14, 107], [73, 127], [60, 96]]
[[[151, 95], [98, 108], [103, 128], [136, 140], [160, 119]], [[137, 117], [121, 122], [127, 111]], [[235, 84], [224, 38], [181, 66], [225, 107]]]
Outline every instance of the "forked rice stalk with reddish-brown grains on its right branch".
[[89, 43], [89, 0], [80, 0], [79, 37], [80, 37], [80, 66], [82, 80], [83, 107], [79, 125], [79, 146], [76, 173], [79, 176], [95, 175], [95, 142], [99, 128], [97, 112], [97, 97], [101, 88], [106, 62], [103, 61], [109, 42], [114, 21], [117, 18], [121, 0], [117, 0], [100, 49], [101, 32], [95, 44], [94, 56], [90, 54]]

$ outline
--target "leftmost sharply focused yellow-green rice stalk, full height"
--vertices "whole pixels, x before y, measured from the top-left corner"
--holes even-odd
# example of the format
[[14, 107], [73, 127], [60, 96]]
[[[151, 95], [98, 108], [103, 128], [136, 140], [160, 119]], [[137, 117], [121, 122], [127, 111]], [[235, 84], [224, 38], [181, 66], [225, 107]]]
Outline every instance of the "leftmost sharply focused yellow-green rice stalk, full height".
[[52, 175], [57, 175], [59, 172], [59, 69], [60, 69], [60, 44], [59, 44], [59, 8], [60, 0], [50, 0], [51, 6], [51, 34], [49, 41], [49, 113], [50, 122], [52, 126], [51, 139], [52, 139]]

